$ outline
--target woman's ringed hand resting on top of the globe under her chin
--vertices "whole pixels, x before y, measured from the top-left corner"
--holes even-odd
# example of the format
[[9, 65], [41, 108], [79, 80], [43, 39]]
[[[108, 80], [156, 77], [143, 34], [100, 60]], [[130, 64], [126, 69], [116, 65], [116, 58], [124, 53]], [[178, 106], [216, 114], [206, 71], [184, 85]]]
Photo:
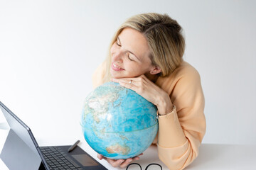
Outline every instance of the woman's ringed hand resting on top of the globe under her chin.
[[160, 115], [171, 112], [173, 108], [169, 95], [159, 86], [156, 86], [156, 84], [147, 79], [144, 74], [140, 77], [112, 79], [112, 81], [128, 89], [132, 89], [136, 91], [137, 94], [146, 98], [147, 101], [150, 101], [157, 107]]

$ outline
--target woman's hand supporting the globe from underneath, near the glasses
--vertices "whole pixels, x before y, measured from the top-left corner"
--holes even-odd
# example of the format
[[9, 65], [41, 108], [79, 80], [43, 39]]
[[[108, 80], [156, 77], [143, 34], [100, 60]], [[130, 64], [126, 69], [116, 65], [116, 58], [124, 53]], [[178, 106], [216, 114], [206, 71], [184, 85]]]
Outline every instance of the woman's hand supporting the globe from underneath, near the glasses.
[[[142, 154], [139, 154], [139, 156]], [[113, 167], [119, 166], [120, 168], [124, 168], [124, 167], [128, 166], [129, 164], [131, 164], [132, 161], [139, 160], [139, 156], [133, 157], [133, 158], [128, 158], [128, 159], [117, 159], [116, 160], [116, 159], [110, 159], [110, 158], [103, 157], [102, 154], [97, 154], [98, 159], [100, 159], [100, 160], [105, 159]]]

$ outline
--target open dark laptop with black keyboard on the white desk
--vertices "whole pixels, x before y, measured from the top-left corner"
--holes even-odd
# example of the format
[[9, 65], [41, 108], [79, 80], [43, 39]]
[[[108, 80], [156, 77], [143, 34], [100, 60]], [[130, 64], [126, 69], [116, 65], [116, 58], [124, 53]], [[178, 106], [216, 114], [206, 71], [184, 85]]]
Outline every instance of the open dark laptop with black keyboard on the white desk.
[[71, 152], [69, 145], [39, 147], [31, 129], [1, 101], [0, 108], [11, 128], [0, 158], [10, 170], [106, 169], [79, 146]]

